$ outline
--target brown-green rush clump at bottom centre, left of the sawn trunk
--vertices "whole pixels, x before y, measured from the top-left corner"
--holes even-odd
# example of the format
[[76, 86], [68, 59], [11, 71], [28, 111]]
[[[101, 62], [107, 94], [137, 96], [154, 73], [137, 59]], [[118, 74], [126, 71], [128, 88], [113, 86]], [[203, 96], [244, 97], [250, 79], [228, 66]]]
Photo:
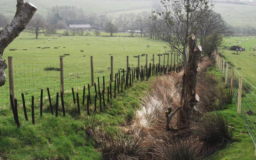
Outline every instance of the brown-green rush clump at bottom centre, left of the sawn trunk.
[[143, 139], [126, 135], [121, 129], [104, 129], [96, 134], [103, 159], [138, 159], [145, 154]]

